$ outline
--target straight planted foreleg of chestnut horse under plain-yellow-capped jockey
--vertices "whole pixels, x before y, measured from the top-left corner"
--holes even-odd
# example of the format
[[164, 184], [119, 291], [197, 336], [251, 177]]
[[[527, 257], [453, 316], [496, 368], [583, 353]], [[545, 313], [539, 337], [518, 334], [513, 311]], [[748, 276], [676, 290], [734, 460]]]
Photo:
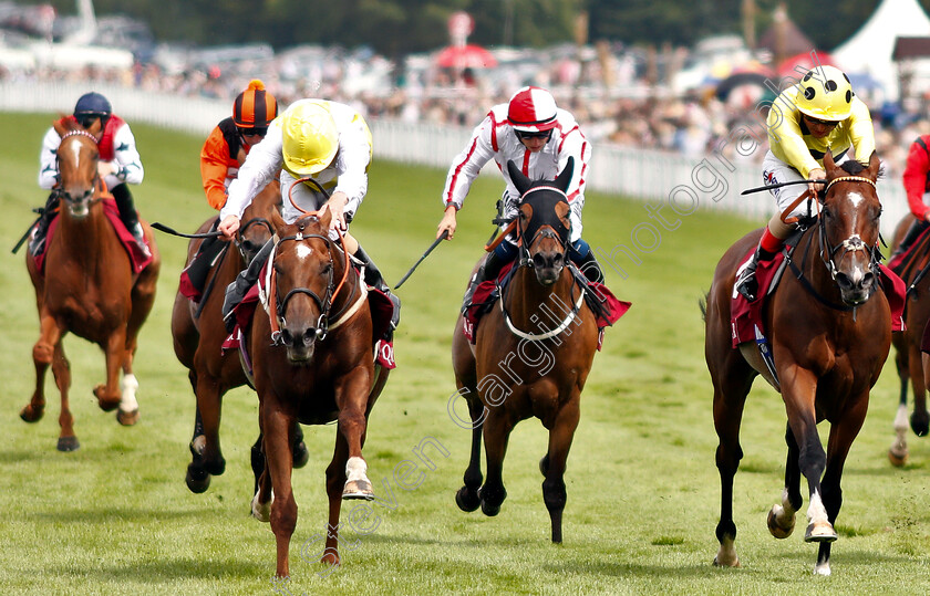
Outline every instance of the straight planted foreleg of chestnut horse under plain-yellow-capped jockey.
[[297, 501], [291, 490], [291, 432], [294, 417], [281, 411], [270, 400], [262, 400], [266, 474], [271, 480], [275, 499], [271, 503], [271, 531], [278, 546], [277, 575], [287, 577], [290, 540], [297, 526]]

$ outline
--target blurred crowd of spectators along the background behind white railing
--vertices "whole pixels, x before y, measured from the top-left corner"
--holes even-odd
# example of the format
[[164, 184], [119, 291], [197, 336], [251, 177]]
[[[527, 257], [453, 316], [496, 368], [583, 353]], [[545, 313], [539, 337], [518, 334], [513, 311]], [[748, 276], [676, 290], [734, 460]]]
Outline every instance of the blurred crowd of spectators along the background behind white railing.
[[[761, 102], [774, 96], [760, 87], [733, 90], [722, 95], [713, 86], [672, 94], [650, 86], [630, 69], [624, 80], [613, 81], [606, 91], [597, 61], [576, 69], [566, 61], [536, 64], [535, 69], [438, 69], [423, 61], [409, 64], [402, 73], [375, 54], [338, 56], [319, 50], [314, 60], [299, 65], [287, 56], [237, 61], [224, 66], [173, 69], [156, 63], [136, 63], [132, 69], [84, 67], [59, 71], [3, 70], [0, 81], [28, 83], [34, 80], [106, 82], [146, 91], [228, 98], [231, 101], [252, 77], [260, 77], [279, 102], [287, 105], [301, 97], [326, 97], [356, 106], [370, 118], [475, 126], [488, 108], [506, 102], [524, 84], [549, 88], [561, 107], [572, 112], [586, 135], [596, 143], [674, 151], [700, 157], [719, 150], [732, 159], [761, 161], [765, 134], [755, 112]], [[334, 59], [338, 57], [338, 59]], [[516, 61], [515, 61], [516, 62]], [[307, 66], [308, 63], [314, 64]], [[526, 65], [524, 65], [526, 66]], [[623, 90], [620, 93], [617, 90]], [[767, 93], [767, 95], [766, 95]], [[868, 101], [867, 101], [868, 103]], [[911, 102], [905, 108], [870, 105], [876, 142], [886, 161], [887, 175], [899, 178], [910, 143], [930, 133], [927, 102]], [[764, 115], [764, 112], [763, 112]], [[752, 155], [737, 155], [727, 143], [734, 130], [751, 127], [763, 143]]]

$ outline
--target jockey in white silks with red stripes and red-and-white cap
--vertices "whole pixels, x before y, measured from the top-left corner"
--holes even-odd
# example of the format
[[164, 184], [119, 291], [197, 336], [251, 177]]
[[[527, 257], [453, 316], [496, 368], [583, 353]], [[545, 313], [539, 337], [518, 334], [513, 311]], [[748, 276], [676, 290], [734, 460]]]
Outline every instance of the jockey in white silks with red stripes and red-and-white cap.
[[[513, 159], [531, 180], [554, 180], [570, 157], [575, 158], [575, 174], [567, 192], [571, 209], [569, 257], [588, 279], [603, 281], [595, 252], [581, 239], [581, 210], [585, 207], [591, 145], [575, 117], [558, 108], [552, 95], [544, 88], [520, 88], [508, 103], [492, 107], [474, 129], [468, 145], [453, 159], [448, 169], [442, 197], [445, 215], [437, 226], [436, 238], [447, 231], [448, 240], [453, 239], [456, 211], [462, 208], [472, 182], [488, 160], [494, 159], [504, 176], [506, 187], [502, 198], [502, 215], [507, 220], [516, 217], [520, 200], [520, 194], [507, 172], [507, 161]], [[500, 228], [506, 226], [502, 223]], [[478, 284], [495, 279], [500, 269], [517, 257], [517, 252], [515, 234], [510, 233], [488, 253], [465, 293], [463, 311], [471, 303]]]

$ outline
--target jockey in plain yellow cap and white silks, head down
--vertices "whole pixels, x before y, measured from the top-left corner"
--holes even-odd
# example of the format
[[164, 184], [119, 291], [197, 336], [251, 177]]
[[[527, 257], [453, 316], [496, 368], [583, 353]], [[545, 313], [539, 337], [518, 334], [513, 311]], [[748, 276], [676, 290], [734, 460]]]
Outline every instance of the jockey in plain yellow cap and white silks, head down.
[[[281, 182], [283, 207], [281, 216], [293, 223], [303, 213], [291, 205], [291, 198], [307, 211], [329, 209], [332, 213], [330, 238], [339, 238], [335, 227], [349, 229], [359, 206], [368, 191], [368, 167], [371, 163], [371, 132], [361, 114], [354, 108], [324, 100], [300, 100], [291, 104], [268, 128], [268, 135], [256, 145], [239, 169], [238, 177], [229, 185], [229, 198], [219, 212], [219, 231], [230, 240], [239, 229], [239, 218], [252, 198], [275, 176]], [[280, 172], [280, 174], [279, 174]], [[316, 185], [297, 180], [312, 176], [312, 180], [330, 192], [329, 199]], [[293, 188], [291, 188], [293, 187]], [[401, 301], [384, 283], [378, 266], [359, 242], [348, 232], [343, 234], [344, 248], [364, 266], [365, 283], [388, 295], [394, 303], [391, 328], [383, 338], [391, 341], [400, 322]], [[248, 269], [229, 284], [223, 315], [227, 325], [229, 314], [255, 285], [273, 240], [256, 255]]]

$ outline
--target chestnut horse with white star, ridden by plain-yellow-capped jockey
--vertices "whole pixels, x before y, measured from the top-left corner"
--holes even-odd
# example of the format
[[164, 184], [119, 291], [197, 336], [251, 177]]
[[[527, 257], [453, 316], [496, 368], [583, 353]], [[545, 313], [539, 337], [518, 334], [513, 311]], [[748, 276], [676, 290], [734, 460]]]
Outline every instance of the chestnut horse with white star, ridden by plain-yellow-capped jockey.
[[374, 366], [368, 290], [348, 253], [329, 238], [331, 216], [323, 210], [286, 224], [272, 213], [277, 244], [268, 262], [269, 281], [262, 285], [267, 312], [256, 309], [247, 332], [267, 463], [257, 478], [251, 509], [258, 520], [271, 522], [277, 575], [282, 577], [289, 575], [288, 551], [297, 525], [291, 446], [298, 421], [338, 421], [327, 467], [323, 563], [340, 563], [341, 500], [374, 498], [362, 447], [388, 369]]

